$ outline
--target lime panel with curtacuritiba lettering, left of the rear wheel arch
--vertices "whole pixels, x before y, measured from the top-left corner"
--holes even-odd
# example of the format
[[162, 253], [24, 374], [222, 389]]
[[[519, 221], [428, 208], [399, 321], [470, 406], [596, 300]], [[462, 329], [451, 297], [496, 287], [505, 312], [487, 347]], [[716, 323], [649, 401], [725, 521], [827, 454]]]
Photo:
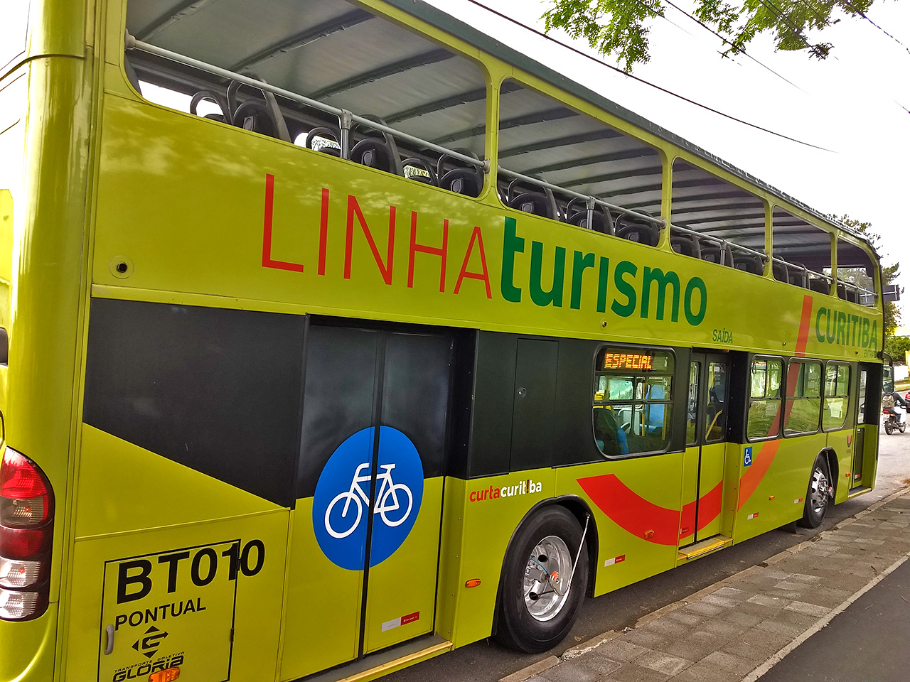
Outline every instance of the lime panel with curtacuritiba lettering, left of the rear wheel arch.
[[[465, 483], [463, 552], [456, 583], [460, 596], [452, 639], [456, 647], [490, 637], [509, 541], [531, 507], [553, 496], [554, 479], [554, 470], [548, 468], [474, 478]], [[480, 586], [466, 587], [465, 583], [473, 579], [480, 579]]]

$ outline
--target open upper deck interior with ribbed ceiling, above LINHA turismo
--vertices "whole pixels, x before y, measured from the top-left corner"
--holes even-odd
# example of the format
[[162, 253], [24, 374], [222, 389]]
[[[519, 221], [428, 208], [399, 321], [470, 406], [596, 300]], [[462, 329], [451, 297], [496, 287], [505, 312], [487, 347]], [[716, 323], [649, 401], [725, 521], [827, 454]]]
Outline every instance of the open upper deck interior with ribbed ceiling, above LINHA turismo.
[[[347, 0], [265, 0], [255, 6], [219, 0], [191, 11], [185, 5], [130, 0], [127, 31], [138, 41], [409, 135], [403, 139], [355, 123], [348, 157], [456, 194], [480, 196], [487, 79], [470, 59]], [[262, 21], [262, 16], [270, 18]], [[236, 39], [238, 31], [242, 39]], [[141, 49], [127, 52], [127, 72], [132, 69], [138, 87], [144, 82], [189, 95], [190, 113], [343, 155], [339, 116], [332, 112]], [[157, 99], [151, 89], [145, 95]], [[499, 97], [496, 191], [504, 205], [658, 245], [664, 227], [663, 169], [655, 147], [512, 79], [501, 84]], [[173, 98], [159, 99], [174, 105]], [[772, 206], [769, 258], [763, 199], [682, 158], [672, 161], [671, 206], [670, 245], [683, 256], [756, 276], [764, 275], [770, 260], [769, 274], [777, 281], [822, 294], [834, 293], [836, 276], [837, 296], [875, 305], [871, 257], [844, 238], [837, 238], [834, 247], [833, 226], [816, 226]], [[834, 248], [843, 275], [834, 273]]]

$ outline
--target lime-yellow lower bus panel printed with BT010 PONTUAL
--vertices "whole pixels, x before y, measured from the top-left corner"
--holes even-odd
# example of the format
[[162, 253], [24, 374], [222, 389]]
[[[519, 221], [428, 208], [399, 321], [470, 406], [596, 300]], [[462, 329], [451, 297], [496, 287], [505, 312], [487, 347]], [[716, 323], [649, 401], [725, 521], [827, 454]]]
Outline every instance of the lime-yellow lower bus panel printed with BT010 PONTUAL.
[[65, 679], [273, 680], [287, 534], [278, 510], [78, 540]]

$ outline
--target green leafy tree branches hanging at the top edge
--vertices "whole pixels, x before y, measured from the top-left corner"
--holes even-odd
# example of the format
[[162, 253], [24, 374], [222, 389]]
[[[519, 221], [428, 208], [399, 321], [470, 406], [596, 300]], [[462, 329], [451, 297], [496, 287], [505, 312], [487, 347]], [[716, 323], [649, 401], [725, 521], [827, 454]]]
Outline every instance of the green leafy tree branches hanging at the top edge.
[[[720, 35], [726, 52], [740, 54], [761, 33], [773, 34], [779, 50], [806, 50], [817, 59], [831, 53], [831, 43], [812, 43], [806, 31], [824, 29], [842, 16], [862, 17], [874, 0], [695, 0], [693, 16]], [[647, 22], [663, 16], [672, 0], [550, 0], [546, 30], [561, 28], [584, 38], [602, 55], [613, 55], [622, 68], [650, 58]], [[677, 9], [679, 9], [677, 7]], [[870, 20], [871, 21], [871, 20]]]

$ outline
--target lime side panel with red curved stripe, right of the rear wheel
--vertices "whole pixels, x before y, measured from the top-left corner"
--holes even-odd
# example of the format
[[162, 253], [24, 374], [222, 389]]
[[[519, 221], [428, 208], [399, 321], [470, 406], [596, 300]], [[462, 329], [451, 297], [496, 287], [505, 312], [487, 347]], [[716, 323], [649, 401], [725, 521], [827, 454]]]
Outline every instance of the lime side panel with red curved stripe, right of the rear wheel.
[[557, 469], [557, 494], [581, 497], [593, 513], [595, 596], [676, 565], [682, 459], [675, 452]]

